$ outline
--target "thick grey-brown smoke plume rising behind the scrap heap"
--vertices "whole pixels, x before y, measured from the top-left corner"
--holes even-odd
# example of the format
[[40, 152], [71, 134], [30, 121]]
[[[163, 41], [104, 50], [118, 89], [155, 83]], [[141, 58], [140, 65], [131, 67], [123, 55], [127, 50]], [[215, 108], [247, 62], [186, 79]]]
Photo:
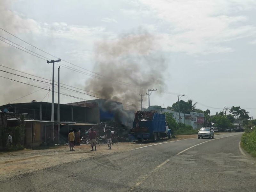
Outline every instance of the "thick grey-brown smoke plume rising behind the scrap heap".
[[[104, 77], [90, 78], [85, 89], [107, 99], [108, 103], [111, 100], [115, 107], [106, 110], [113, 111], [119, 122], [131, 116], [123, 108], [140, 109], [139, 94], [146, 95], [148, 89], [161, 89], [165, 85], [167, 64], [156, 42], [154, 35], [139, 30], [95, 44], [93, 71]], [[113, 101], [122, 102], [123, 108]]]

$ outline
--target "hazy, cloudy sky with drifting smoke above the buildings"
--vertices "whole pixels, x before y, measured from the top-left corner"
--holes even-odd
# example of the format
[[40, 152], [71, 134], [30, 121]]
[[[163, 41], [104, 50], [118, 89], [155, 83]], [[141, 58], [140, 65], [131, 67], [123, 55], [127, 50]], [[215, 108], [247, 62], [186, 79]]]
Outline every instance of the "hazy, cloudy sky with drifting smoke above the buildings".
[[[171, 106], [179, 93], [211, 114], [234, 105], [256, 117], [255, 9], [252, 0], [1, 0], [0, 27], [75, 64], [55, 64], [55, 79], [60, 66], [60, 81], [72, 90], [121, 99], [129, 108], [137, 105], [140, 93], [148, 107], [146, 90], [158, 89], [150, 96], [151, 105]], [[57, 59], [1, 29], [0, 36], [39, 57]], [[51, 79], [47, 59], [2, 41], [0, 49], [0, 65]], [[44, 79], [47, 83], [2, 71], [0, 76], [51, 88]], [[51, 102], [47, 90], [0, 78], [0, 105]], [[77, 97], [61, 95], [61, 103], [95, 99], [63, 87], [61, 92]]]

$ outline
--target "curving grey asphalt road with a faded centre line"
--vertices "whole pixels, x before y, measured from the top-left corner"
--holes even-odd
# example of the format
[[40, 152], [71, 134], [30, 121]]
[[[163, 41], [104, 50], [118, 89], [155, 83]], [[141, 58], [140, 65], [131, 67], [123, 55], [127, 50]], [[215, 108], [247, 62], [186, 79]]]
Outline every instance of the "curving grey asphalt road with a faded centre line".
[[241, 133], [188, 139], [81, 160], [0, 182], [1, 191], [256, 191]]

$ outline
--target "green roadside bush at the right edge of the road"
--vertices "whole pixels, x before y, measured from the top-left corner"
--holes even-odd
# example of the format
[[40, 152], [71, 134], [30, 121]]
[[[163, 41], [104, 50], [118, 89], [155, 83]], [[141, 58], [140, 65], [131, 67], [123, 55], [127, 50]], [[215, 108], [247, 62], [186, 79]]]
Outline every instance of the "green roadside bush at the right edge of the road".
[[241, 137], [242, 147], [256, 157], [256, 130], [245, 132]]

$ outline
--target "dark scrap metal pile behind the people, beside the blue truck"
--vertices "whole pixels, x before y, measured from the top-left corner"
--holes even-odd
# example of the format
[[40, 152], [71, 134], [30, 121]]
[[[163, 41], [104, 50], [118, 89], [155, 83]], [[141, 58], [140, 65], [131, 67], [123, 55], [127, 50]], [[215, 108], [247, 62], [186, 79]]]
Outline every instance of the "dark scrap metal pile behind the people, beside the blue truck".
[[[105, 129], [110, 129], [113, 133], [112, 135], [112, 142], [116, 143], [116, 142], [126, 142], [128, 141], [128, 134], [130, 133], [130, 127], [125, 126], [124, 124], [119, 124], [116, 122], [102, 122], [99, 125], [96, 125], [93, 127], [94, 131], [97, 133], [98, 136], [98, 142], [99, 143], [106, 143], [106, 139], [105, 139]], [[81, 139], [81, 143], [88, 143], [88, 138], [89, 138], [89, 132], [85, 131], [82, 134], [82, 139]]]

